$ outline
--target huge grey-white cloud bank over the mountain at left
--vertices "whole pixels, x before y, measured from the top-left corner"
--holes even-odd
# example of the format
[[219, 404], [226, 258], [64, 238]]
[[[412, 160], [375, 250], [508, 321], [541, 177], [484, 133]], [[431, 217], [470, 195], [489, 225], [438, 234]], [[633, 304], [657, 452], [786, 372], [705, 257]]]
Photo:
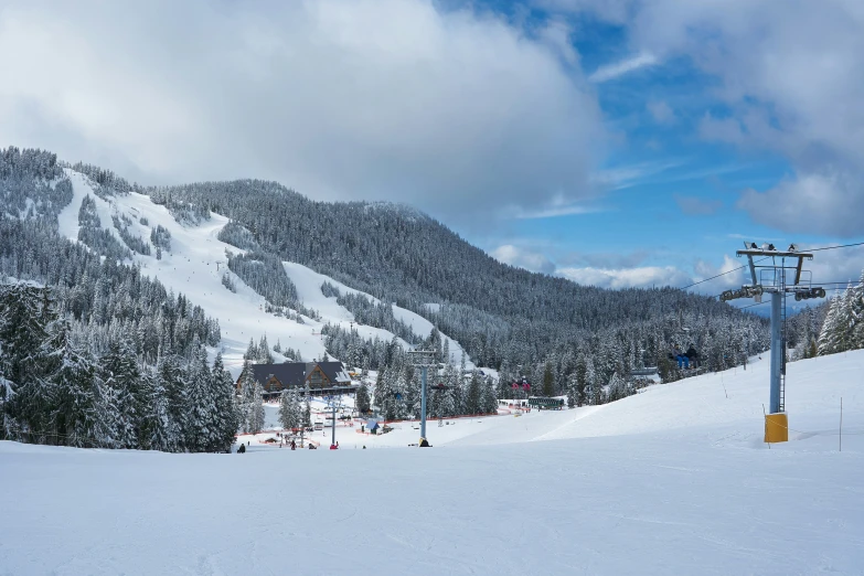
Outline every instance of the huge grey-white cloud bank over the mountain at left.
[[148, 183], [266, 178], [451, 221], [577, 202], [605, 136], [567, 33], [428, 0], [12, 0], [0, 145]]

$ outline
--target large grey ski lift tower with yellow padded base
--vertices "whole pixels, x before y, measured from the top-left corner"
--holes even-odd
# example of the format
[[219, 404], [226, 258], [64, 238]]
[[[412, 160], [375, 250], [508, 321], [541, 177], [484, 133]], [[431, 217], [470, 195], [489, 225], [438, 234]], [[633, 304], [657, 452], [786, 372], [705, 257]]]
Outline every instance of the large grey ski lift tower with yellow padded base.
[[[812, 260], [813, 255], [798, 252], [794, 244], [786, 250], [778, 250], [774, 244], [744, 243], [745, 249], [738, 250], [738, 257], [747, 256], [750, 270], [750, 284], [739, 290], [726, 290], [721, 300], [726, 302], [736, 298], [753, 298], [762, 301], [762, 294], [771, 295], [771, 369], [769, 414], [765, 416], [765, 441], [785, 442], [789, 439], [789, 422], [786, 415], [786, 296], [794, 299], [824, 298], [825, 290], [811, 286], [811, 274], [802, 270], [804, 259]], [[758, 260], [754, 260], [759, 257]], [[770, 264], [760, 264], [770, 259]], [[790, 265], [787, 265], [790, 260]], [[792, 276], [789, 282], [787, 276]], [[806, 277], [806, 278], [802, 278]]]

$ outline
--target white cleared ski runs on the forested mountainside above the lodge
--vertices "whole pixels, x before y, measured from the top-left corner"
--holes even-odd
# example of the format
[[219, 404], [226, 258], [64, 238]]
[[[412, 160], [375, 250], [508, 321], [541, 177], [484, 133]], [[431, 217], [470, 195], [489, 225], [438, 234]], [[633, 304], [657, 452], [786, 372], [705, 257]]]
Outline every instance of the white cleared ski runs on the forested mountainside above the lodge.
[[[200, 225], [180, 224], [166, 206], [153, 204], [149, 196], [130, 193], [104, 200], [94, 193], [87, 177], [70, 169], [66, 169], [66, 174], [72, 181], [74, 196], [61, 212], [58, 225], [60, 233], [67, 238], [76, 241], [78, 237], [78, 211], [87, 195], [95, 201], [102, 227], [110, 231], [120, 242], [119, 232], [111, 225], [111, 216], [128, 216], [131, 221], [129, 232], [145, 239], [149, 238], [151, 230], [159, 225], [170, 232], [171, 250], [164, 250], [161, 259], [157, 259], [154, 254], [137, 253], [134, 258], [140, 264], [142, 274], [158, 278], [168, 289], [185, 295], [192, 302], [203, 307], [207, 314], [218, 319], [225, 365], [235, 376], [239, 373], [243, 353], [250, 338], [257, 342], [266, 334], [270, 344], [278, 341], [282, 348], [292, 348], [305, 360], [311, 360], [321, 358], [324, 353], [320, 332], [327, 322], [348, 328], [353, 320], [351, 312], [339, 306], [335, 298], [323, 296], [321, 284], [330, 281], [346, 291], [356, 290], [295, 263], [285, 263], [285, 269], [296, 284], [300, 300], [307, 308], [318, 311], [320, 320], [303, 318], [303, 323], [299, 323], [267, 313], [265, 299], [230, 271], [237, 288], [236, 294], [226, 289], [222, 285], [222, 276], [227, 270], [225, 250], [243, 252], [217, 238], [222, 227], [227, 224], [227, 218], [211, 214], [211, 218]], [[145, 218], [146, 224], [141, 218]], [[371, 296], [369, 298], [372, 299]], [[426, 337], [433, 329], [430, 322], [408, 310], [394, 306], [394, 314], [412, 326], [418, 335]], [[356, 323], [354, 328], [364, 338], [377, 337], [384, 341], [393, 338], [393, 333], [386, 330]], [[454, 361], [459, 362], [462, 349], [451, 339], [450, 351]], [[472, 366], [470, 362], [469, 366]]]

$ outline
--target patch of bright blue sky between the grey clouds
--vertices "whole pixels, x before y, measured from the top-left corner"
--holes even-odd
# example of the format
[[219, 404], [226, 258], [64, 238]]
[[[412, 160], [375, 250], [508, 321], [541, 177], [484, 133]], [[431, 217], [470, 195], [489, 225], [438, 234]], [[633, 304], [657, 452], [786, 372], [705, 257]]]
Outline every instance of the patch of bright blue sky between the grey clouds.
[[[639, 9], [638, 2], [628, 4]], [[524, 13], [514, 17], [524, 3], [483, 6], [509, 18], [525, 18]], [[729, 10], [737, 8], [729, 4]], [[533, 26], [550, 20], [566, 24], [568, 43], [596, 90], [611, 143], [593, 173], [597, 198], [585, 203], [584, 213], [516, 220], [503, 227], [503, 234], [469, 233], [490, 253], [512, 264], [577, 280], [686, 286], [728, 269], [728, 257], [742, 248], [744, 239], [782, 247], [790, 242], [815, 247], [864, 239], [861, 218], [851, 231], [832, 234], [825, 226], [808, 226], [794, 217], [766, 223], [742, 204], [744, 191], [766, 193], [783, 181], [794, 181], [797, 164], [796, 158], [771, 146], [740, 146], [712, 137], [705, 129], [706, 118], [738, 121], [739, 103], [724, 94], [725, 84], [737, 81], [734, 67], [712, 73], [686, 52], [661, 57], [640, 50], [627, 19], [610, 22], [589, 10], [568, 12], [536, 6], [530, 14]], [[723, 49], [722, 39], [717, 44]], [[826, 66], [838, 57], [824, 49], [813, 53], [824, 58]], [[806, 66], [807, 58], [801, 60]], [[754, 90], [742, 100], [757, 98]], [[767, 109], [774, 106], [769, 100], [760, 105]], [[774, 114], [769, 116], [769, 122], [782, 131], [782, 122]], [[857, 202], [847, 207], [861, 207], [864, 189], [857, 188], [853, 195]], [[765, 210], [759, 206], [759, 212]], [[825, 217], [842, 221], [847, 215], [835, 212]], [[855, 280], [864, 268], [860, 248], [830, 254], [821, 266], [819, 259], [808, 264], [814, 268], [817, 281]], [[733, 262], [735, 266], [744, 264]], [[640, 269], [642, 274], [633, 274]], [[617, 278], [622, 271], [631, 274]], [[740, 273], [729, 274], [694, 289], [718, 294], [742, 281]]]

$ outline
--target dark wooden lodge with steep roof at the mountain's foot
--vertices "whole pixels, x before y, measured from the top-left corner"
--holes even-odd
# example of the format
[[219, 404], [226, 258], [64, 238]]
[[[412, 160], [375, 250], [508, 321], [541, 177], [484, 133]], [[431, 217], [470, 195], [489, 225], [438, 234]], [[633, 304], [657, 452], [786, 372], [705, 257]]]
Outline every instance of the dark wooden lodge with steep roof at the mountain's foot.
[[[351, 376], [341, 362], [286, 362], [284, 364], [252, 364], [255, 380], [264, 388], [264, 397], [278, 396], [284, 390], [298, 388], [306, 393], [307, 387], [314, 396], [330, 394], [353, 394], [359, 386], [352, 384]], [[243, 374], [237, 378], [237, 393], [241, 392]]]

